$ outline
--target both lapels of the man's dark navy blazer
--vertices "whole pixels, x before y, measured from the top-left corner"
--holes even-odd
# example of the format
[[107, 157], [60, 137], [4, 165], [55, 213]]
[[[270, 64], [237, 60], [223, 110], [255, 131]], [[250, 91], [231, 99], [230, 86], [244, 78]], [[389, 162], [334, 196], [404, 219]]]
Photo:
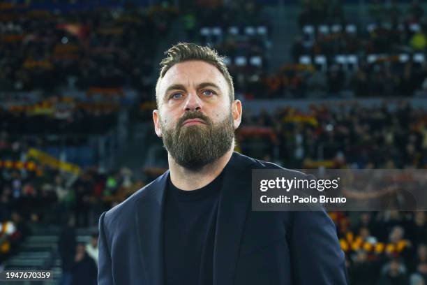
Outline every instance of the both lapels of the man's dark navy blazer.
[[[231, 285], [239, 258], [241, 235], [250, 209], [253, 160], [233, 152], [224, 168], [213, 247], [213, 285]], [[147, 284], [164, 284], [163, 213], [170, 172], [147, 185], [135, 201], [140, 256]]]

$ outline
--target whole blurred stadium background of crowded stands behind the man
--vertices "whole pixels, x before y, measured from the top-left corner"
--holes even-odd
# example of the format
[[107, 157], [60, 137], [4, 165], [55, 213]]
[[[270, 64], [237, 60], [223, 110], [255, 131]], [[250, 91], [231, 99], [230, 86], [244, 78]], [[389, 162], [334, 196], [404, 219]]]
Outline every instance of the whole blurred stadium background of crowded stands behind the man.
[[[167, 168], [151, 112], [158, 63], [179, 41], [227, 56], [244, 107], [237, 151], [285, 168], [427, 168], [426, 9], [2, 1], [0, 271], [95, 284], [100, 213]], [[350, 284], [426, 284], [425, 212], [329, 214]]]

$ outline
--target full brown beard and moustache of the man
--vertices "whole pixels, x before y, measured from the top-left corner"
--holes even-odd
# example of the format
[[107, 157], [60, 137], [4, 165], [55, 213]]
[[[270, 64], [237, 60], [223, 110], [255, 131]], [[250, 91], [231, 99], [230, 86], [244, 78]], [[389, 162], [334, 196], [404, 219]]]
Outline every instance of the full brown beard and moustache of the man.
[[[187, 119], [202, 119], [206, 124], [183, 126]], [[217, 124], [201, 112], [186, 112], [174, 129], [167, 129], [160, 118], [163, 145], [170, 156], [183, 168], [197, 170], [223, 156], [234, 140], [233, 117], [229, 115]]]

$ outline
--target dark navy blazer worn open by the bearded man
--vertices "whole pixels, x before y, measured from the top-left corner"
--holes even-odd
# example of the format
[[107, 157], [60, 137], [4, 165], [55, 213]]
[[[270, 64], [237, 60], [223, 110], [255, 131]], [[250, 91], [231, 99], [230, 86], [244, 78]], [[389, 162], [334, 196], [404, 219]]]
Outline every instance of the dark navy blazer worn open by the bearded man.
[[[251, 210], [251, 170], [262, 168], [280, 167], [234, 152], [224, 168], [213, 285], [347, 284], [345, 257], [326, 212]], [[164, 284], [163, 206], [169, 175], [167, 170], [101, 215], [98, 284]]]

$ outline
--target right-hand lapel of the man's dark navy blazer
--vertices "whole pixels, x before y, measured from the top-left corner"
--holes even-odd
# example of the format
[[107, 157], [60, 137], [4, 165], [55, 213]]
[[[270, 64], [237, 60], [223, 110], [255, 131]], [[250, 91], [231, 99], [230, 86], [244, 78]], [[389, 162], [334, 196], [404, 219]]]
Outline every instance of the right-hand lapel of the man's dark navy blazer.
[[241, 235], [250, 209], [250, 171], [248, 159], [233, 153], [225, 167], [220, 194], [213, 249], [213, 285], [233, 284], [239, 258]]

